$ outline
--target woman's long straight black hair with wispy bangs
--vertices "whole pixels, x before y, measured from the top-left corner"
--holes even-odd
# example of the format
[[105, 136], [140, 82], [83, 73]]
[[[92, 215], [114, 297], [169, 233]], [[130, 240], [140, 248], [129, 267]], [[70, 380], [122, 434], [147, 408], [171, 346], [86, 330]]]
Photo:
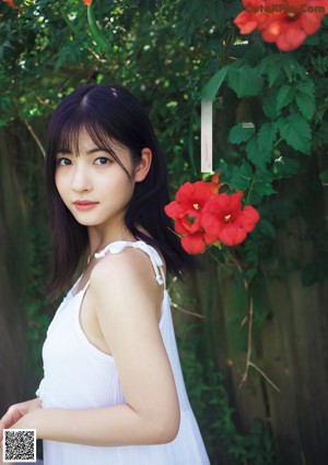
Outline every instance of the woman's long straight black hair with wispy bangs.
[[[169, 202], [167, 172], [151, 122], [142, 105], [126, 88], [117, 85], [85, 84], [68, 95], [54, 111], [47, 138], [46, 184], [52, 217], [54, 257], [49, 279], [52, 295], [60, 294], [75, 275], [89, 249], [86, 226], [75, 220], [63, 204], [56, 183], [56, 154], [60, 150], [78, 151], [79, 132], [85, 129], [93, 142], [106, 148], [126, 170], [110, 147], [110, 140], [129, 148], [132, 164], [138, 165], [141, 151], [152, 151], [152, 163], [145, 179], [136, 182], [128, 204], [125, 224], [137, 238], [163, 253], [167, 271], [183, 276], [184, 270], [196, 270], [198, 263], [180, 246], [172, 231], [172, 220], [164, 206]], [[140, 225], [151, 236], [137, 229]]]

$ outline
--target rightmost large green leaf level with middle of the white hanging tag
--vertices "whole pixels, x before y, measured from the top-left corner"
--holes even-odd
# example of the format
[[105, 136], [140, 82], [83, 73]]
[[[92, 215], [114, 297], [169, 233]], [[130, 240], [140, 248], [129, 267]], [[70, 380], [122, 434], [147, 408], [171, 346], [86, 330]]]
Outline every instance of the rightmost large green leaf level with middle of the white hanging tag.
[[295, 151], [306, 155], [311, 152], [311, 128], [301, 115], [289, 115], [280, 117], [276, 121], [282, 139]]

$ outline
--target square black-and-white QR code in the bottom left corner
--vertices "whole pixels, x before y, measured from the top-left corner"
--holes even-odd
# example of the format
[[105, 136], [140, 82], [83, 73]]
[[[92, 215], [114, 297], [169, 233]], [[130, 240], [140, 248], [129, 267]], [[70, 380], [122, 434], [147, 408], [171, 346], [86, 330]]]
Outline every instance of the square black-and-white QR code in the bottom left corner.
[[3, 430], [3, 463], [36, 462], [36, 430]]

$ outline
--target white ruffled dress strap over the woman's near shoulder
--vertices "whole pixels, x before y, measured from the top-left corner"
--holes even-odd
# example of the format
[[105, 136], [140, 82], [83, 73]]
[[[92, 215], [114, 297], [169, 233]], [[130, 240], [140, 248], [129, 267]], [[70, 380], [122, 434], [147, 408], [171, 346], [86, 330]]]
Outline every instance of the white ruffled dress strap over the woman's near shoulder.
[[163, 271], [163, 260], [161, 259], [159, 252], [150, 245], [144, 242], [143, 240], [138, 240], [136, 242], [133, 241], [127, 241], [127, 240], [118, 240], [116, 242], [108, 243], [103, 250], [99, 252], [96, 252], [94, 257], [96, 259], [103, 259], [106, 253], [119, 253], [121, 252], [126, 247], [133, 247], [133, 249], [140, 249], [144, 253], [147, 253], [152, 262], [155, 278], [159, 285], [164, 285], [164, 290], [166, 289], [165, 286], [165, 275]]

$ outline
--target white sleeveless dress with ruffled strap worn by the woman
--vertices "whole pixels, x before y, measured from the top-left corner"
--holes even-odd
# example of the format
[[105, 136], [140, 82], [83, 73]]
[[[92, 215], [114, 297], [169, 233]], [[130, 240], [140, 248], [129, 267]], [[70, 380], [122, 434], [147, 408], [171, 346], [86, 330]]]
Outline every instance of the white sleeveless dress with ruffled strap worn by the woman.
[[[126, 247], [145, 252], [157, 283], [164, 284], [160, 331], [179, 398], [178, 434], [169, 443], [154, 445], [92, 446], [44, 440], [44, 465], [209, 465], [186, 393], [160, 254], [138, 240], [112, 242], [95, 257], [101, 259], [108, 252], [119, 253]], [[79, 281], [58, 308], [43, 347], [44, 379], [36, 395], [43, 401], [44, 408], [99, 408], [125, 403], [114, 358], [92, 345], [81, 329], [80, 307], [89, 283], [74, 294]]]

